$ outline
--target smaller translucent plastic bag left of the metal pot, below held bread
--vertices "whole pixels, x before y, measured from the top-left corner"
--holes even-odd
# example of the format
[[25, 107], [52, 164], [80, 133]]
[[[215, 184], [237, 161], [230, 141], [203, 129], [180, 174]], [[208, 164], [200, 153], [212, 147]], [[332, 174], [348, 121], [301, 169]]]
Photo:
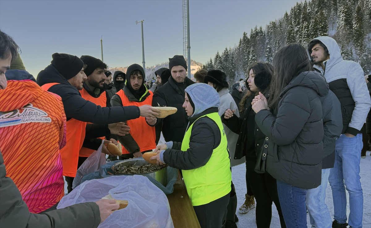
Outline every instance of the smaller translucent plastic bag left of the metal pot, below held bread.
[[106, 163], [106, 155], [105, 153], [102, 153], [103, 142], [104, 140], [102, 140], [101, 146], [99, 146], [98, 150], [94, 151], [78, 168], [76, 177], [72, 182], [72, 189], [80, 183], [84, 175], [99, 171], [99, 167]]

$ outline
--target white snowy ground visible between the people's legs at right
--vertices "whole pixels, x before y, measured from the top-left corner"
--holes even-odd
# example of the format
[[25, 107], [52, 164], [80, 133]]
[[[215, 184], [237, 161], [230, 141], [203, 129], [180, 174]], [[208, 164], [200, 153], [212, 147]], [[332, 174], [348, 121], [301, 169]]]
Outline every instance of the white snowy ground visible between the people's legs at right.
[[[243, 204], [245, 194], [246, 194], [246, 166], [245, 164], [237, 165], [232, 167], [232, 180], [236, 188], [238, 206], [237, 206], [237, 217], [239, 222], [237, 222], [237, 227], [239, 228], [255, 228], [255, 209], [249, 211], [247, 214], [240, 214], [238, 208]], [[366, 158], [361, 158], [361, 185], [363, 189], [363, 222], [362, 225], [364, 228], [371, 227], [371, 156], [370, 151], [367, 152]], [[347, 192], [347, 216], [349, 216], [349, 194]], [[332, 192], [331, 187], [328, 184], [326, 189], [326, 204], [330, 211], [330, 215], [333, 218], [334, 215], [334, 204], [332, 202]], [[307, 215], [307, 226], [310, 228], [309, 215]], [[275, 204], [272, 205], [272, 222], [270, 224], [271, 228], [281, 227], [279, 223], [279, 217]]]

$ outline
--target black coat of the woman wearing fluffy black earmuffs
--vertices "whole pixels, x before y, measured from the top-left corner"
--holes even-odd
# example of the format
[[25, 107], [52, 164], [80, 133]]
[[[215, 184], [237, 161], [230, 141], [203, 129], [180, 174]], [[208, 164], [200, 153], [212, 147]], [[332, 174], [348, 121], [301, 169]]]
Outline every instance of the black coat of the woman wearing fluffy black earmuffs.
[[[264, 95], [269, 98], [269, 92]], [[251, 102], [255, 98], [251, 95], [246, 99], [244, 104], [243, 114], [238, 118], [233, 115], [232, 118], [224, 119], [224, 114], [221, 116], [221, 122], [224, 123], [230, 130], [238, 134], [236, 151], [234, 159], [241, 159], [246, 156], [256, 160], [256, 153], [262, 149], [265, 141], [265, 134], [259, 129], [255, 123], [255, 112], [252, 109]]]

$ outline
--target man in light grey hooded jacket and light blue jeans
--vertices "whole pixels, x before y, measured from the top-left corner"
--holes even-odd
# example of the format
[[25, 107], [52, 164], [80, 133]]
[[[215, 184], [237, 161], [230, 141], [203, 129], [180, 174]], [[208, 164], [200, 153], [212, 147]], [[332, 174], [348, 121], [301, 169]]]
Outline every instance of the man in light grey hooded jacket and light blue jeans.
[[344, 184], [349, 192], [349, 226], [362, 227], [363, 193], [359, 176], [361, 128], [371, 107], [364, 73], [358, 63], [342, 59], [339, 46], [331, 37], [313, 39], [307, 51], [314, 68], [325, 76], [329, 88], [341, 104], [342, 135], [336, 140], [335, 164], [328, 178], [335, 208], [332, 227], [347, 226]]

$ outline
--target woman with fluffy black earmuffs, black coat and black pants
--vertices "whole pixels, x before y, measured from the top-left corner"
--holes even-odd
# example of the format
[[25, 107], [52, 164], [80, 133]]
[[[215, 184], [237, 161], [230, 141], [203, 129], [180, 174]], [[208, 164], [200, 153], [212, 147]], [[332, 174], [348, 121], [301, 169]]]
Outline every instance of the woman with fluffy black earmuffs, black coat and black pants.
[[281, 227], [286, 227], [278, 199], [276, 179], [267, 172], [258, 174], [254, 170], [257, 161], [256, 154], [262, 149], [267, 139], [255, 123], [255, 112], [251, 102], [259, 92], [269, 98], [273, 66], [270, 63], [254, 62], [249, 66], [248, 72], [249, 78], [246, 81], [248, 91], [240, 102], [240, 118], [236, 112], [227, 109], [221, 120], [230, 130], [239, 134], [234, 159], [246, 156], [246, 183], [250, 184], [256, 199], [256, 226], [258, 228], [270, 227], [272, 202], [274, 202]]

